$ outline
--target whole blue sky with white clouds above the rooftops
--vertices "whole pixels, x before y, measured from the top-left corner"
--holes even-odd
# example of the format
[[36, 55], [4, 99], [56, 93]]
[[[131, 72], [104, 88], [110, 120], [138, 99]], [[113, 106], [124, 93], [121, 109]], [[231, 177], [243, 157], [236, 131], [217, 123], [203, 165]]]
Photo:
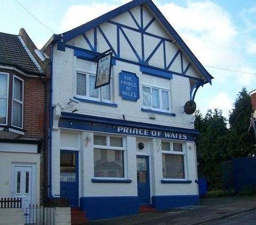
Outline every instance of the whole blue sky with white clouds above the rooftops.
[[[129, 1], [0, 0], [0, 31], [18, 34], [23, 27], [41, 48], [53, 33], [75, 28], [126, 2]], [[218, 108], [228, 117], [242, 87], [248, 91], [256, 89], [256, 1], [155, 0], [154, 3], [214, 77], [212, 85], [206, 84], [197, 91], [197, 108], [203, 115], [207, 109]]]

